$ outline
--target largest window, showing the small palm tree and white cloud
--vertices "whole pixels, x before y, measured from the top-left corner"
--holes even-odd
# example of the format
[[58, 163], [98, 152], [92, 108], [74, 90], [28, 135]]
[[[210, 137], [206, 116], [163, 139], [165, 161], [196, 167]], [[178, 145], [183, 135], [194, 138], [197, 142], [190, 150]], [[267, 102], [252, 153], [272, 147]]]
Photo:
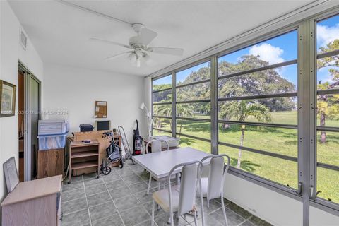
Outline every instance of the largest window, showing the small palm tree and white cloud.
[[296, 188], [297, 31], [220, 57], [218, 74], [219, 153]]

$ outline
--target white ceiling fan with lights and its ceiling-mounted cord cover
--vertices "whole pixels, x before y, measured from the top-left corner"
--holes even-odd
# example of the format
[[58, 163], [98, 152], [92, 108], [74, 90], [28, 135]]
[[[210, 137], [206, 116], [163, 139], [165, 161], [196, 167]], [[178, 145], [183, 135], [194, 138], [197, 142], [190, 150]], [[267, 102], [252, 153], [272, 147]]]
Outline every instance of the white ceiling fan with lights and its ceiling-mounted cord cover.
[[110, 40], [102, 40], [97, 37], [90, 38], [90, 41], [101, 42], [101, 43], [106, 43], [106, 44], [114, 44], [114, 45], [125, 47], [126, 49], [128, 49], [128, 51], [126, 52], [114, 54], [110, 57], [105, 58], [105, 60], [116, 59], [117, 57], [126, 56], [127, 59], [129, 59], [134, 66], [140, 67], [141, 61], [144, 61], [145, 64], [150, 64], [150, 62], [152, 61], [150, 53], [167, 54], [167, 55], [174, 55], [174, 56], [182, 56], [182, 54], [184, 54], [184, 49], [167, 48], [167, 47], [150, 47], [149, 44], [150, 42], [152, 42], [152, 40], [155, 39], [155, 37], [157, 37], [157, 32], [154, 32], [152, 30], [149, 30], [148, 28], [145, 28], [145, 25], [141, 23], [130, 23], [126, 20], [114, 18], [112, 16], [108, 16], [106, 14], [93, 11], [90, 8], [85, 8], [83, 6], [73, 4], [69, 1], [64, 1], [64, 0], [57, 0], [57, 1], [61, 2], [62, 4], [66, 4], [68, 6], [72, 6], [72, 7], [81, 9], [83, 11], [87, 11], [89, 13], [94, 13], [97, 16], [109, 18], [111, 20], [115, 20], [120, 23], [126, 23], [133, 28], [133, 30], [136, 32], [137, 35], [129, 38], [129, 44], [121, 44], [119, 42], [114, 42]]

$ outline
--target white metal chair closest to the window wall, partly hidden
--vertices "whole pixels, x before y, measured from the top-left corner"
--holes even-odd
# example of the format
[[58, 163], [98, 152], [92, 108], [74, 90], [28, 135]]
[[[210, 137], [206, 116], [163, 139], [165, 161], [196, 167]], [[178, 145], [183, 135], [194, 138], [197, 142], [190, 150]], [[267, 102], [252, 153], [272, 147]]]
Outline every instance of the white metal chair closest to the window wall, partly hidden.
[[[224, 157], [227, 157], [227, 165], [225, 167]], [[224, 214], [226, 225], [227, 215], [224, 204], [224, 184], [228, 168], [230, 167], [230, 157], [227, 155], [208, 155], [203, 157], [201, 162], [210, 159], [210, 172], [208, 177], [201, 178], [201, 186], [198, 188], [199, 194], [207, 198], [207, 207], [209, 208], [209, 201], [213, 198], [221, 198], [222, 213]]]

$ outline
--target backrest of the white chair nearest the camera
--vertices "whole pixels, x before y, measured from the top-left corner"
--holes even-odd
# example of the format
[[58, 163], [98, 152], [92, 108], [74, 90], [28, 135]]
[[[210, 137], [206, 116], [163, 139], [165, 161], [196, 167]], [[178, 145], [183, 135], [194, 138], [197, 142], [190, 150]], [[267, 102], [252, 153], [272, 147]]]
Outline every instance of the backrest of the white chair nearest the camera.
[[[180, 183], [179, 194], [179, 208], [178, 214], [182, 215], [189, 212], [194, 208], [196, 201], [196, 190], [201, 179], [201, 173], [203, 172], [203, 163], [200, 161], [186, 162], [173, 167], [169, 172], [167, 178], [168, 184], [170, 184], [171, 176], [177, 168], [182, 167], [182, 178]], [[172, 210], [172, 188], [169, 186], [169, 206]]]

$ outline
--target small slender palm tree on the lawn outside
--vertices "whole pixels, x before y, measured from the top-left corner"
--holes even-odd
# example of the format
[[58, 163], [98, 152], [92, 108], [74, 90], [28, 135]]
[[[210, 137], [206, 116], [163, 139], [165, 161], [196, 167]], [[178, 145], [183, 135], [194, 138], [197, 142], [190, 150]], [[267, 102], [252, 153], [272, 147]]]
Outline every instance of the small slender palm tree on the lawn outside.
[[[224, 105], [225, 106], [225, 105]], [[240, 100], [231, 102], [224, 112], [224, 117], [235, 118], [237, 121], [246, 121], [248, 117], [254, 117], [261, 122], [270, 121], [270, 109], [262, 105], [258, 101], [250, 102], [248, 100]], [[240, 138], [240, 146], [244, 144], [245, 125], [242, 124], [242, 136]], [[242, 159], [242, 149], [239, 148], [237, 168], [240, 168]]]

